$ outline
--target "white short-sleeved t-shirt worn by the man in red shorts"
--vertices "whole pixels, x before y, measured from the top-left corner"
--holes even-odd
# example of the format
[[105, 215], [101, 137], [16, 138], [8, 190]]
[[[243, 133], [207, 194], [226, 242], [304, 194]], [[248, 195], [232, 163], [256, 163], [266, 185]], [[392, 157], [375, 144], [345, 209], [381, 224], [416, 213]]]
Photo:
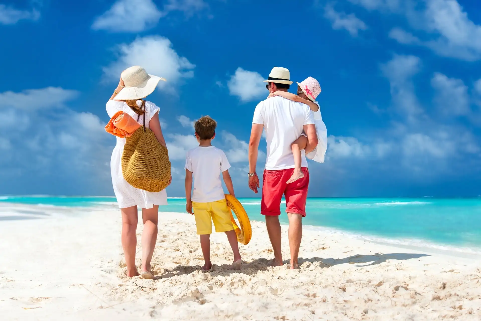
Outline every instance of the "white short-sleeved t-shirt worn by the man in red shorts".
[[[266, 169], [294, 168], [291, 144], [303, 133], [303, 126], [314, 124], [309, 106], [275, 96], [255, 107], [253, 124], [264, 125], [267, 141]], [[307, 167], [304, 150], [302, 167]]]

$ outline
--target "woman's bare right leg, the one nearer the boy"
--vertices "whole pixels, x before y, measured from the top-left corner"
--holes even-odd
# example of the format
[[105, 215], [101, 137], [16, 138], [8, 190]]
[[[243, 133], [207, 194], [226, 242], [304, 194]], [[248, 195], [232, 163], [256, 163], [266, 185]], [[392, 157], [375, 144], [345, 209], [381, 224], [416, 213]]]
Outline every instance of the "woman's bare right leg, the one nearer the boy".
[[153, 279], [151, 261], [155, 243], [157, 242], [157, 220], [159, 205], [152, 208], [142, 208], [142, 221], [144, 231], [142, 232], [142, 267], [141, 274], [145, 279]]

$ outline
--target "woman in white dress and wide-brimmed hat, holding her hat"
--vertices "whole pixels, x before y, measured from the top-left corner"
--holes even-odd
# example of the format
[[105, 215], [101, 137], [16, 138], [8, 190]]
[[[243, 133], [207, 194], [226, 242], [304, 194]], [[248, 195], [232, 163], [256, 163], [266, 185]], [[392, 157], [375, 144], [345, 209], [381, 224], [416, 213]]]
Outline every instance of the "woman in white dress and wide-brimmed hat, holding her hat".
[[[109, 117], [114, 116], [118, 111], [123, 111], [137, 119], [140, 124], [143, 124], [145, 114], [145, 127], [150, 128], [157, 141], [167, 147], [160, 128], [160, 108], [148, 101], [145, 102], [145, 110], [142, 108], [142, 98], [147, 97], [155, 90], [159, 80], [165, 81], [164, 78], [148, 75], [145, 69], [140, 66], [127, 68], [120, 75], [120, 82], [107, 102], [106, 108]], [[159, 205], [167, 205], [167, 193], [165, 190], [158, 193], [147, 192], [127, 183], [122, 175], [121, 165], [125, 142], [125, 138], [117, 137], [117, 145], [112, 152], [110, 168], [115, 196], [122, 213], [122, 247], [127, 263], [127, 276], [139, 275], [135, 266], [135, 252], [137, 246], [137, 206], [140, 206], [144, 223], [140, 275], [145, 279], [153, 279], [151, 260], [157, 241], [157, 212]], [[172, 177], [170, 181], [172, 181]]]

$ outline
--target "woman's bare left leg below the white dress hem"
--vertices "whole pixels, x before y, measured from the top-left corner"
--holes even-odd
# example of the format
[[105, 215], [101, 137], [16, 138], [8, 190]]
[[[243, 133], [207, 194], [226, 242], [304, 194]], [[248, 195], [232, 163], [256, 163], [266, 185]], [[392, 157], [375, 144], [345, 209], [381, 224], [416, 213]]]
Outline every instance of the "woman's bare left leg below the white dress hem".
[[137, 247], [137, 206], [121, 208], [122, 213], [122, 248], [124, 249], [127, 276], [138, 276], [135, 266], [135, 248]]

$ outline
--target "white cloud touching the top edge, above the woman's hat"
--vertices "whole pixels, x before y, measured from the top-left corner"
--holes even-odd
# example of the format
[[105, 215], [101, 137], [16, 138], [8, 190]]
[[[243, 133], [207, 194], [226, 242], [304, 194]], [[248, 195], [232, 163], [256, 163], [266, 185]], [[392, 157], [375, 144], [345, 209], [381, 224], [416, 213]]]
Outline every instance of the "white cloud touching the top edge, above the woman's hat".
[[118, 0], [95, 19], [92, 29], [140, 32], [155, 26], [162, 16], [152, 0]]

